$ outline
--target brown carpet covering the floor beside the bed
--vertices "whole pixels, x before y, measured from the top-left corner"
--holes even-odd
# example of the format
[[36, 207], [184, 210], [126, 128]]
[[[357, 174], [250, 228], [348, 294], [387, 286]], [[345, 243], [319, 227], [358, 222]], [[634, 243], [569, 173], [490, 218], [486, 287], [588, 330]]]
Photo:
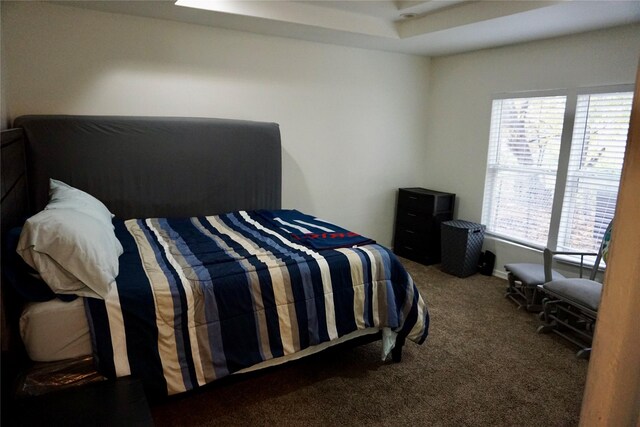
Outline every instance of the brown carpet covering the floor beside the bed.
[[380, 343], [329, 350], [152, 405], [157, 426], [573, 426], [588, 362], [503, 297], [507, 282], [460, 279], [408, 260], [430, 335], [403, 360]]

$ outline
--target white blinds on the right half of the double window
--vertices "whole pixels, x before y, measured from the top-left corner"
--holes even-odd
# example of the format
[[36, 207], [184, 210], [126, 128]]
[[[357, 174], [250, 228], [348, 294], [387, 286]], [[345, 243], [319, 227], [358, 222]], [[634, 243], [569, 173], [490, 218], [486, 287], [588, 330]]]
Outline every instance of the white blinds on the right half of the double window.
[[613, 219], [632, 92], [579, 95], [558, 247], [597, 252]]

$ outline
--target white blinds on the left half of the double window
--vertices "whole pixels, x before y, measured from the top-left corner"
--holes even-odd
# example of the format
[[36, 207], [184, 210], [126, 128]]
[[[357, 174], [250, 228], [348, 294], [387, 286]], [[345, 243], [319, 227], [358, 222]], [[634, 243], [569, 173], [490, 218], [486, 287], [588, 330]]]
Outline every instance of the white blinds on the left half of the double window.
[[565, 96], [493, 101], [482, 222], [494, 235], [544, 246]]

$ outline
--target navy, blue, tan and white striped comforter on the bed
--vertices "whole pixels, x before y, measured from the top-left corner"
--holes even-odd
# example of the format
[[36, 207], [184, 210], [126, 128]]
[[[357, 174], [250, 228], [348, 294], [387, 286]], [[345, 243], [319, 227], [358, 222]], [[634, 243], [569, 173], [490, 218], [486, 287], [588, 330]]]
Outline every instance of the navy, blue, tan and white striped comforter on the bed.
[[87, 299], [100, 370], [175, 394], [365, 328], [422, 343], [427, 309], [398, 259], [377, 244], [311, 249], [299, 235], [342, 229], [298, 214], [117, 222], [116, 286]]

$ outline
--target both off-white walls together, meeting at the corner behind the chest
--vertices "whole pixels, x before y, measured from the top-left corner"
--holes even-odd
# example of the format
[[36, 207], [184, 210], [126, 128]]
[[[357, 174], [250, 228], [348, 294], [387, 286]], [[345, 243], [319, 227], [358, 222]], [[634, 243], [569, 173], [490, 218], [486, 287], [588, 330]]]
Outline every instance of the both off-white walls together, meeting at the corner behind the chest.
[[[632, 83], [640, 26], [427, 58], [31, 2], [2, 2], [2, 119], [278, 122], [283, 204], [390, 244], [395, 190], [479, 222], [496, 93]], [[10, 82], [10, 84], [8, 84]], [[486, 239], [507, 262], [540, 254]]]

